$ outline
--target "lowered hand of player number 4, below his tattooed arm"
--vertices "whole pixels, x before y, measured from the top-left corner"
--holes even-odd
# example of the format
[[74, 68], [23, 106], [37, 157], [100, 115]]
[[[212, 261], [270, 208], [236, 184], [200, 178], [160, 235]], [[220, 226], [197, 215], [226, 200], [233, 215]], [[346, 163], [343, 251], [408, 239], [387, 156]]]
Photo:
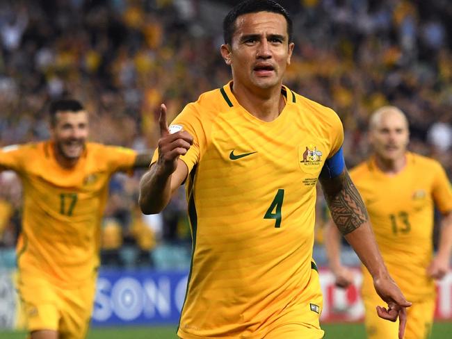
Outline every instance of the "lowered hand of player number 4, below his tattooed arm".
[[403, 339], [405, 325], [407, 324], [406, 308], [410, 307], [411, 303], [405, 299], [402, 291], [389, 275], [374, 279], [373, 286], [380, 298], [387, 303], [387, 308], [377, 306], [378, 316], [392, 322], [395, 322], [398, 317], [398, 338]]

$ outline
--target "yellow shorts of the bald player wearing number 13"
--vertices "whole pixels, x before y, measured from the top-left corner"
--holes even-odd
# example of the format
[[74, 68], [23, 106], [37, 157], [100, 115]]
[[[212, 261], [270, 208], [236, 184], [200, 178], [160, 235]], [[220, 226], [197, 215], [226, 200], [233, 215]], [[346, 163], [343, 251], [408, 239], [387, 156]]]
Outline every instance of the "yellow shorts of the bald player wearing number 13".
[[[397, 339], [398, 320], [390, 322], [377, 315], [376, 306], [385, 306], [384, 301], [378, 295], [363, 296], [364, 308], [366, 308], [365, 325], [369, 339]], [[430, 297], [423, 301], [416, 301], [407, 308], [407, 325], [405, 327], [405, 339], [427, 339], [433, 324], [435, 313], [435, 298]]]

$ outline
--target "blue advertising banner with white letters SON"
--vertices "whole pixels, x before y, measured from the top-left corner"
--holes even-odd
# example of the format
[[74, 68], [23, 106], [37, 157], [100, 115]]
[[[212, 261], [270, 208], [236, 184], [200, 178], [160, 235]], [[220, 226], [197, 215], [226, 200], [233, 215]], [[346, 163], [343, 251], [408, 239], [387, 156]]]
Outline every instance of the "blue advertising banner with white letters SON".
[[188, 272], [102, 271], [92, 325], [177, 324], [187, 279]]

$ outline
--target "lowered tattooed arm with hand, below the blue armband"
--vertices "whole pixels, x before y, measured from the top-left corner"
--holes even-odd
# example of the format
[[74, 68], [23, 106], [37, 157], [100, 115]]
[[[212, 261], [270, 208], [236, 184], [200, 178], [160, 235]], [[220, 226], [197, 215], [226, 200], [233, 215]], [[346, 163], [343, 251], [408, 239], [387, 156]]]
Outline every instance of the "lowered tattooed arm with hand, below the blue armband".
[[411, 303], [405, 299], [389, 276], [373, 236], [360, 193], [345, 168], [339, 176], [333, 178], [321, 176], [319, 179], [334, 224], [355, 249], [373, 278], [376, 292], [388, 305], [387, 308], [377, 306], [378, 316], [393, 322], [399, 317], [398, 336], [403, 338], [406, 324], [405, 308], [411, 306]]

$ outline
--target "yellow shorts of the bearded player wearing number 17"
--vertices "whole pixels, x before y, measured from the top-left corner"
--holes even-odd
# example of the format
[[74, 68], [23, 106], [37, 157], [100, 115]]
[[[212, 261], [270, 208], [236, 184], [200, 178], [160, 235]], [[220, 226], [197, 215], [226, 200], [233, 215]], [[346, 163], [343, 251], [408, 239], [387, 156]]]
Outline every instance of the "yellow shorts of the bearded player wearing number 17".
[[19, 274], [17, 282], [25, 324], [29, 332], [42, 329], [60, 333], [60, 338], [86, 337], [95, 295], [95, 279], [67, 288], [42, 276]]

